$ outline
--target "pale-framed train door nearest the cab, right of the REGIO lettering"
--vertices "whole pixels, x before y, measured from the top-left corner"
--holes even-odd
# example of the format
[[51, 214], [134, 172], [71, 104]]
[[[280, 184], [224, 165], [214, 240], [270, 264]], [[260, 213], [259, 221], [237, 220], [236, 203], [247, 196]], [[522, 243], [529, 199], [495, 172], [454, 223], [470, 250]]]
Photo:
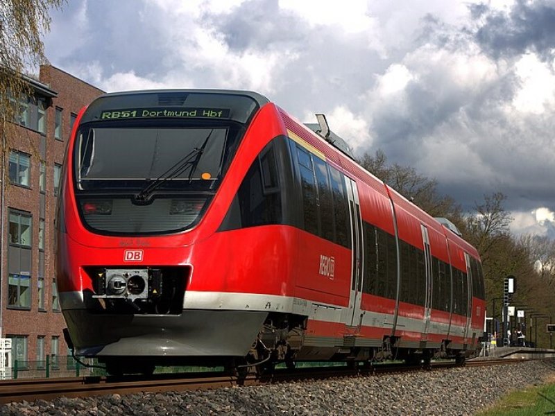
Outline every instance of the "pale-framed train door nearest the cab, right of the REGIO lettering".
[[361, 298], [362, 298], [362, 218], [360, 214], [359, 192], [357, 183], [345, 176], [347, 194], [349, 198], [349, 213], [351, 219], [352, 239], [352, 268], [351, 268], [351, 291], [349, 297], [349, 313], [347, 324], [352, 327], [360, 327], [362, 323]]

